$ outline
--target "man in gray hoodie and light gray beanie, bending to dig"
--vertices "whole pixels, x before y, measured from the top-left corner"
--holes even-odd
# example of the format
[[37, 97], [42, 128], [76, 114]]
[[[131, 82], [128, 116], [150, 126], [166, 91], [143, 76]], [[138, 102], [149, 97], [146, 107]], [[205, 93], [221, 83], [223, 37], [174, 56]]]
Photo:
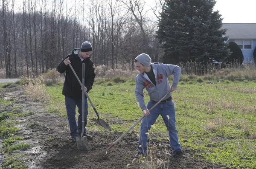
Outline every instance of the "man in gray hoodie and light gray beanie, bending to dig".
[[[157, 120], [159, 115], [167, 127], [170, 138], [170, 146], [174, 156], [184, 156], [181, 152], [181, 146], [178, 141], [178, 134], [175, 126], [175, 107], [172, 102], [172, 92], [166, 96], [160, 104], [157, 105], [151, 112], [148, 110], [154, 106], [169, 90], [177, 89], [177, 84], [180, 80], [180, 67], [177, 65], [151, 63], [151, 58], [147, 54], [140, 54], [134, 59], [137, 70], [135, 95], [143, 111], [143, 118], [140, 127], [140, 141], [138, 153], [134, 156], [147, 154], [148, 135], [146, 134], [151, 128], [151, 125]], [[168, 81], [168, 76], [174, 75], [172, 86]], [[143, 89], [146, 88], [150, 100], [145, 106]]]

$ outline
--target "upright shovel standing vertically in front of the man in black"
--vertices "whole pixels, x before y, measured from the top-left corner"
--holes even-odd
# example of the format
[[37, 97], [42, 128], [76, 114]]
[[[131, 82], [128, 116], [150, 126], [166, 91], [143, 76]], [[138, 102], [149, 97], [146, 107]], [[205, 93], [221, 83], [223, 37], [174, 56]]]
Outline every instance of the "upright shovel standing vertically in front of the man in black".
[[85, 64], [82, 64], [82, 131], [81, 135], [76, 137], [76, 145], [78, 150], [87, 150], [89, 151], [89, 145], [87, 141], [87, 137], [83, 137], [84, 134], [84, 66]]

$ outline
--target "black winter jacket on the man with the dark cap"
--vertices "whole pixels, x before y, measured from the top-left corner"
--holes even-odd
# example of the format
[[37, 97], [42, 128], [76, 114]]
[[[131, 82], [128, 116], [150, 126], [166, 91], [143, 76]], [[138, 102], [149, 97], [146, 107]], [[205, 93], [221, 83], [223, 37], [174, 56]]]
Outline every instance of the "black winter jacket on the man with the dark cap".
[[[85, 76], [84, 76], [84, 86], [87, 87], [87, 92], [92, 89], [92, 85], [94, 82], [94, 78], [96, 74], [94, 73], [94, 65], [93, 61], [88, 57], [81, 61], [77, 52], [79, 48], [76, 48], [72, 51], [72, 54], [69, 54], [65, 57], [67, 59], [69, 57], [71, 65], [73, 66], [77, 76], [82, 82], [82, 63], [85, 63]], [[62, 94], [64, 96], [69, 96], [72, 98], [79, 99], [82, 97], [82, 90], [79, 82], [76, 79], [73, 71], [71, 70], [69, 65], [65, 65], [64, 60], [58, 65], [58, 72], [64, 73], [66, 71], [65, 82], [62, 89]]]

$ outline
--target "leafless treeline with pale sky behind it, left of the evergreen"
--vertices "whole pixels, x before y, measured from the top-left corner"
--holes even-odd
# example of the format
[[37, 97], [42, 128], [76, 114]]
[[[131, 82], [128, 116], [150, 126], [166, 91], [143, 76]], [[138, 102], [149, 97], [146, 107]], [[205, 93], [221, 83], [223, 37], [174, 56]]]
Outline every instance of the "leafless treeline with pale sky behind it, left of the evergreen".
[[156, 23], [142, 0], [2, 0], [0, 69], [6, 77], [56, 68], [73, 48], [93, 44], [95, 65], [129, 65], [140, 53], [158, 60]]

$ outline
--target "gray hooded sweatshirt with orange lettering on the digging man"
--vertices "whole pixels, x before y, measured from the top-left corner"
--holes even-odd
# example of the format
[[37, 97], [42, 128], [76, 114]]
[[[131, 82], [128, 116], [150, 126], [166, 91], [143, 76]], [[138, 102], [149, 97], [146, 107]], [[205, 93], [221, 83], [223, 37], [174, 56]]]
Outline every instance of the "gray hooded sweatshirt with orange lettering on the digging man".
[[[135, 95], [137, 101], [140, 103], [142, 110], [146, 109], [144, 102], [143, 89], [146, 88], [150, 100], [159, 101], [170, 89], [168, 76], [174, 75], [172, 86], [177, 87], [180, 80], [180, 67], [177, 65], [168, 65], [163, 63], [151, 63], [153, 72], [156, 79], [156, 85], [154, 85], [148, 78], [146, 73], [139, 73], [135, 77], [136, 88]], [[166, 96], [163, 100], [172, 96], [172, 92]]]

